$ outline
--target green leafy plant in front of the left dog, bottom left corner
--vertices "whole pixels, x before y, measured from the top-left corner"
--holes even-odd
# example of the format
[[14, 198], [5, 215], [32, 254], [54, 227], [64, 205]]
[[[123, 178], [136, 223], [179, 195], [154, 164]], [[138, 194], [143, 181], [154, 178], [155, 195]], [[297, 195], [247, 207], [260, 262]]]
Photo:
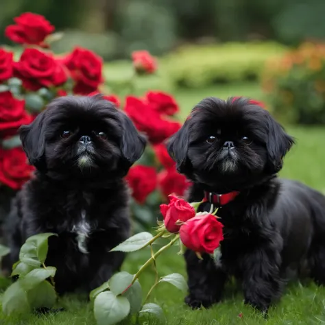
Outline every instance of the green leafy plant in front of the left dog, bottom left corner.
[[2, 298], [2, 310], [6, 315], [51, 308], [56, 303], [53, 280], [56, 268], [45, 265], [51, 236], [56, 234], [36, 234], [21, 247], [19, 261], [12, 269], [12, 277], [17, 280], [8, 287]]

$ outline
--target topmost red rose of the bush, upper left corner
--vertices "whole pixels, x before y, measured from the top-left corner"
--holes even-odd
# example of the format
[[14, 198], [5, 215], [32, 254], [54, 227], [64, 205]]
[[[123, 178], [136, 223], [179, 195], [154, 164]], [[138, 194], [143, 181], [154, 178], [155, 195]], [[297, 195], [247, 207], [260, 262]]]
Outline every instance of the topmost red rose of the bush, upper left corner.
[[45, 47], [43, 41], [54, 31], [54, 26], [40, 14], [25, 12], [14, 18], [16, 25], [5, 28], [5, 36], [15, 43], [35, 44]]

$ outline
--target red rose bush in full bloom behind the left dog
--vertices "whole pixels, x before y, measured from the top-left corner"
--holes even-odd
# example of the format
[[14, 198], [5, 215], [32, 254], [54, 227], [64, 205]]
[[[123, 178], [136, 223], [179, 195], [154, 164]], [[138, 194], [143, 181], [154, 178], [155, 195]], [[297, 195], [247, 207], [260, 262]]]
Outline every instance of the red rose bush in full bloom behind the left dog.
[[[14, 58], [13, 51], [0, 47], [0, 190], [21, 189], [34, 171], [21, 149], [17, 134], [21, 125], [31, 123], [54, 97], [101, 94], [124, 110], [149, 140], [145, 154], [125, 178], [133, 198], [134, 229], [148, 229], [154, 225], [159, 204], [170, 193], [183, 195], [189, 186], [177, 173], [164, 144], [181, 127], [177, 120], [179, 106], [173, 96], [162, 91], [148, 89], [144, 95], [132, 91], [134, 95], [125, 96], [121, 89], [120, 95], [119, 84], [106, 84], [104, 61], [93, 51], [75, 47], [71, 53], [54, 55], [51, 42], [59, 34], [53, 32], [55, 27], [44, 16], [32, 12], [14, 18], [14, 24], [5, 29], [5, 36], [23, 50], [19, 58]], [[128, 84], [134, 85], [158, 69], [156, 58], [148, 51], [134, 51], [131, 59], [134, 75]], [[106, 91], [108, 88], [116, 93]], [[15, 174], [8, 164], [13, 164], [12, 153], [17, 154]]]

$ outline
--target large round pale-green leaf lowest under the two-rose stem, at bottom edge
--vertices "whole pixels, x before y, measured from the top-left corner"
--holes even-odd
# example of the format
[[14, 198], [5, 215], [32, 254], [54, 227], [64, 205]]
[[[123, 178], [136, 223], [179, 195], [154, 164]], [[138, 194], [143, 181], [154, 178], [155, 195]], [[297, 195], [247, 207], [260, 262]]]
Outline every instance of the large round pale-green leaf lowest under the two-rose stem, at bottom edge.
[[94, 313], [97, 325], [117, 324], [129, 315], [130, 302], [125, 297], [104, 291], [95, 298]]

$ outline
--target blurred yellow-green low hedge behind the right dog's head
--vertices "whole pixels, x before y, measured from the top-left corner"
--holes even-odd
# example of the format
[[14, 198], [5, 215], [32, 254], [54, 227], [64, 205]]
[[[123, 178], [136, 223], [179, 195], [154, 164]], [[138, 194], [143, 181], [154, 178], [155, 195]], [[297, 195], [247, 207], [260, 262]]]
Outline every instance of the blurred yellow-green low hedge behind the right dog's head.
[[186, 45], [165, 58], [176, 86], [204, 88], [213, 84], [258, 80], [267, 59], [287, 50], [277, 43]]

